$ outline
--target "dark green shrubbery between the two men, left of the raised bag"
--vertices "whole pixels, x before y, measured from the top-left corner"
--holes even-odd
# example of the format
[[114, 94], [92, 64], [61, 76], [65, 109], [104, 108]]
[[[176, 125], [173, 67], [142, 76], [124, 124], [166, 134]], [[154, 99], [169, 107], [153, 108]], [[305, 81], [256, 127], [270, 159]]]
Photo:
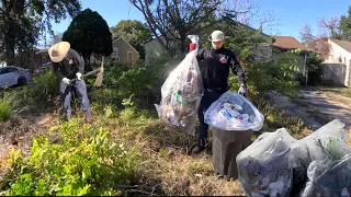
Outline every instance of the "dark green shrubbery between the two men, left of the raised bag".
[[154, 104], [160, 101], [161, 86], [166, 78], [179, 63], [169, 61], [154, 59], [147, 66], [139, 62], [137, 68], [123, 63], [107, 63], [104, 72], [104, 88], [93, 92], [93, 101], [102, 106], [113, 102], [117, 108], [123, 108], [122, 101], [134, 94], [136, 107], [154, 108]]

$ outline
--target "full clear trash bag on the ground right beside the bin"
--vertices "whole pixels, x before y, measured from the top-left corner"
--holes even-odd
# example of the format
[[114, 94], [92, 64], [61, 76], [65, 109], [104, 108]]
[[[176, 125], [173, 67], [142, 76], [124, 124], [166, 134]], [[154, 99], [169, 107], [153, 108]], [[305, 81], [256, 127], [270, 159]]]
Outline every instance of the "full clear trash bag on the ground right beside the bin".
[[293, 171], [291, 146], [296, 141], [285, 128], [264, 132], [241, 151], [236, 161], [247, 196], [288, 196]]

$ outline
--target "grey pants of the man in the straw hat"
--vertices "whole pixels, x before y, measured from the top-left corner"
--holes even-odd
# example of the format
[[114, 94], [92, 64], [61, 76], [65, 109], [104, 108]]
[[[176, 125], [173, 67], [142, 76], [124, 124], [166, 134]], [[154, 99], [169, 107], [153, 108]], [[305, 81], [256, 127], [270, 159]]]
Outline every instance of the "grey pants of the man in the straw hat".
[[72, 84], [66, 84], [64, 82], [60, 82], [59, 93], [61, 96], [61, 103], [63, 103], [65, 115], [67, 116], [71, 115], [70, 97], [72, 94], [72, 88], [76, 89], [76, 93], [78, 94], [79, 103], [82, 111], [86, 114], [90, 114], [91, 112], [90, 112], [89, 100], [87, 94], [87, 85], [83, 80], [79, 80], [73, 82]]

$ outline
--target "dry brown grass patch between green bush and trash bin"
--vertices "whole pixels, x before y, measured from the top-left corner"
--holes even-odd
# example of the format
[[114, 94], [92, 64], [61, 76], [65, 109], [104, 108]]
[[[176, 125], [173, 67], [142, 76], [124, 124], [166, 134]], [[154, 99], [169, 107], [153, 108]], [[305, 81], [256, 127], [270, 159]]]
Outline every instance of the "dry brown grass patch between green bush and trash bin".
[[139, 164], [134, 179], [139, 194], [244, 195], [238, 181], [227, 182], [215, 175], [210, 154], [186, 154], [196, 141], [194, 137], [177, 132], [155, 120], [138, 128], [117, 126], [113, 136], [139, 151]]

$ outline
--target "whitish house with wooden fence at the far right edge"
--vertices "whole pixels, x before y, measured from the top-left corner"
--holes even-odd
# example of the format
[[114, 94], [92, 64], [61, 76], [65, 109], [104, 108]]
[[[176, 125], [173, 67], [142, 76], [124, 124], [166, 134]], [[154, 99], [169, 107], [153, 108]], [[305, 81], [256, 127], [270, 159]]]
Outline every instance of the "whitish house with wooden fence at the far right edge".
[[322, 80], [351, 86], [351, 42], [328, 39], [329, 53], [324, 61]]

